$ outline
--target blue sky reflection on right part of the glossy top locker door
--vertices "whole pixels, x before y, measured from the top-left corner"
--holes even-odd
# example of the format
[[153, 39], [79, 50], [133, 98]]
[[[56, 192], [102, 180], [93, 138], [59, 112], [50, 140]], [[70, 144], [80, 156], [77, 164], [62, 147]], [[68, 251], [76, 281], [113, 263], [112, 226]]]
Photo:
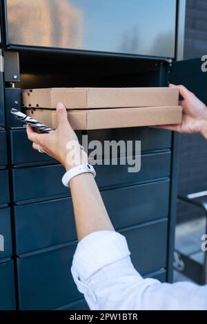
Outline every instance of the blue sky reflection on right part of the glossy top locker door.
[[67, 1], [83, 10], [83, 49], [172, 56], [175, 0]]

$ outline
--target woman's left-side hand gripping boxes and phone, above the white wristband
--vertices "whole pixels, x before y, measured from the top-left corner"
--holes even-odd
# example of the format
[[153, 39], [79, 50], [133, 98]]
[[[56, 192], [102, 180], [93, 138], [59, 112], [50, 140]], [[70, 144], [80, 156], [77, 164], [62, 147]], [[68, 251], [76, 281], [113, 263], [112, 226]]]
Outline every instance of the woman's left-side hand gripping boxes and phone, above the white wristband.
[[28, 139], [33, 142], [34, 150], [41, 150], [59, 161], [66, 170], [75, 165], [88, 163], [86, 152], [81, 150], [77, 135], [70, 127], [68, 114], [63, 103], [57, 105], [57, 129], [50, 134], [34, 132], [27, 126]]

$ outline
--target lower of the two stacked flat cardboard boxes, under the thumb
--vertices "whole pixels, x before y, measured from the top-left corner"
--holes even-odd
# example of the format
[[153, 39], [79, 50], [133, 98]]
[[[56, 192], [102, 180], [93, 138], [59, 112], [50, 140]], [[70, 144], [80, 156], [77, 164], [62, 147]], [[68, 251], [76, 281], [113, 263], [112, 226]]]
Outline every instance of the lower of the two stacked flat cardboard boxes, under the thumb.
[[[55, 110], [28, 109], [26, 114], [50, 128], [57, 127]], [[178, 105], [68, 111], [68, 120], [74, 130], [166, 125], [181, 123], [181, 117], [182, 108]]]

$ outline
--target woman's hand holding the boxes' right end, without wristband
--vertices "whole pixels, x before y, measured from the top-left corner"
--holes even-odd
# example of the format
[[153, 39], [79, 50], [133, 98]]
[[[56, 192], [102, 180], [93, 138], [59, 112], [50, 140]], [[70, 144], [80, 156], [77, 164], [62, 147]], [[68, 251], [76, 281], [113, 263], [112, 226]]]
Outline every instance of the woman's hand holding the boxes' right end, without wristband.
[[184, 85], [169, 85], [170, 88], [177, 88], [183, 100], [183, 118], [181, 124], [160, 125], [166, 130], [175, 130], [181, 133], [200, 133], [207, 139], [207, 108], [193, 92], [190, 92]]

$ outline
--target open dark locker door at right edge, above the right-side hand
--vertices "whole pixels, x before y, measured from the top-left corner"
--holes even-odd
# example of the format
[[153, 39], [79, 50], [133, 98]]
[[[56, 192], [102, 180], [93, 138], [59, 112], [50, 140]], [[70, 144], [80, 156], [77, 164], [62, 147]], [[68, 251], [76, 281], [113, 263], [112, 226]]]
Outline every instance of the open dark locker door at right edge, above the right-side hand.
[[207, 57], [205, 61], [199, 58], [173, 63], [169, 78], [171, 83], [185, 85], [207, 104]]

